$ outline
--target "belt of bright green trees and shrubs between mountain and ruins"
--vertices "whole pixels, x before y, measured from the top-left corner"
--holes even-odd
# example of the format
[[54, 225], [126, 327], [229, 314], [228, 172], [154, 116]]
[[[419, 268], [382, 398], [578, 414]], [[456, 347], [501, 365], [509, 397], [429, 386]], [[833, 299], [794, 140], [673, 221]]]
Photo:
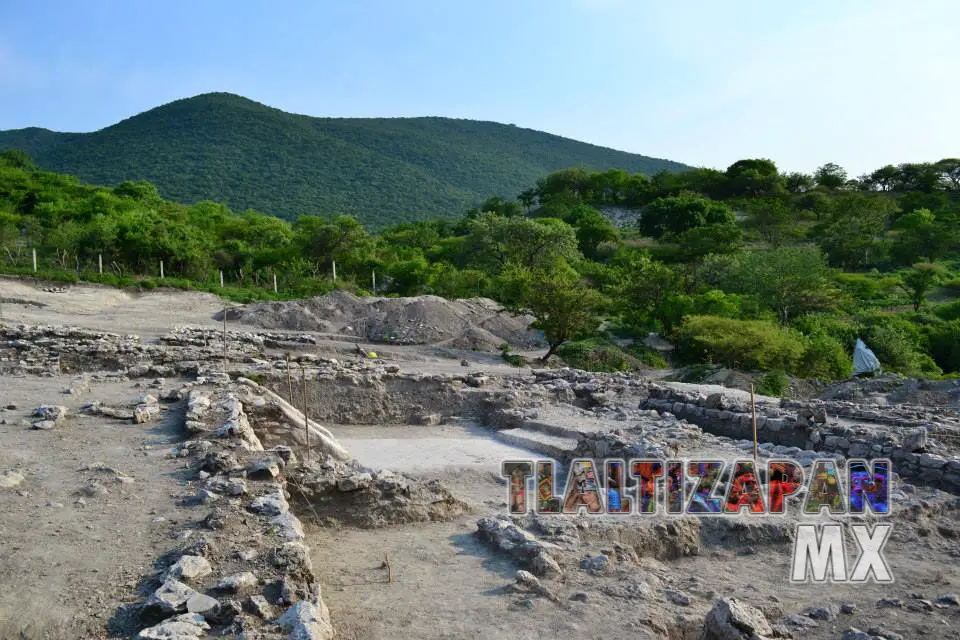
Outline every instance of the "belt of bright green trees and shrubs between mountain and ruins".
[[[635, 221], [614, 227], [608, 206]], [[0, 270], [29, 273], [31, 247], [47, 276], [221, 291], [223, 270], [222, 292], [240, 299], [369, 293], [374, 272], [380, 294], [490, 296], [596, 369], [658, 363], [611, 341], [657, 331], [681, 363], [844, 378], [859, 336], [888, 369], [960, 373], [956, 159], [857, 179], [833, 164], [784, 175], [769, 160], [653, 177], [570, 169], [458, 220], [371, 234], [346, 215], [291, 223], [176, 204], [147, 182], [89, 186], [5, 152]]]

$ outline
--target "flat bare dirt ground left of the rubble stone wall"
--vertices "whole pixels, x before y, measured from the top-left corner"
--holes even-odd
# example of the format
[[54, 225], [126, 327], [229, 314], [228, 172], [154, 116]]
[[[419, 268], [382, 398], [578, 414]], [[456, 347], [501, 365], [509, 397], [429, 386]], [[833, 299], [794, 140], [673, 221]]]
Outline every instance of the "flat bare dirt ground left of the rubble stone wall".
[[[116, 603], [136, 599], [141, 576], [189, 517], [171, 499], [182, 465], [166, 457], [182, 417], [134, 425], [77, 415], [85, 400], [124, 405], [143, 390], [95, 384], [76, 398], [60, 393], [68, 383], [26, 378], [0, 388], [0, 406], [17, 406], [0, 413], [0, 472], [25, 478], [0, 489], [2, 638], [107, 637]], [[53, 403], [71, 410], [63, 425], [39, 431], [21, 422]], [[124, 476], [83, 470], [97, 463]]]

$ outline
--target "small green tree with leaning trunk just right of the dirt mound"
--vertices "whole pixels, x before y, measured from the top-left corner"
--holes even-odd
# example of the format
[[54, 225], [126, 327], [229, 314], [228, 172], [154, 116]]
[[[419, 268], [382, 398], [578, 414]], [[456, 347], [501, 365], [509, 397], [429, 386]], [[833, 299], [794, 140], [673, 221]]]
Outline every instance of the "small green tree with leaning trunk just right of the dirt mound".
[[511, 307], [528, 311], [535, 318], [531, 327], [543, 331], [549, 345], [544, 363], [562, 344], [599, 324], [602, 297], [563, 261], [536, 269], [511, 266], [501, 277], [501, 289]]

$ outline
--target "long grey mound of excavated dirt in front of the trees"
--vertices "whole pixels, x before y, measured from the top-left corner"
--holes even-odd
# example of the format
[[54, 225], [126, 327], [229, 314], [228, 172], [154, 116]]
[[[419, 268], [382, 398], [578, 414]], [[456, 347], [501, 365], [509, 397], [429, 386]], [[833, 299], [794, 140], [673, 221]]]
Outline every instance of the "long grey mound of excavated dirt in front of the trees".
[[517, 316], [487, 298], [446, 300], [358, 298], [346, 291], [290, 302], [249, 304], [228, 310], [227, 319], [261, 329], [319, 331], [392, 344], [443, 344], [462, 349], [541, 348], [530, 316]]

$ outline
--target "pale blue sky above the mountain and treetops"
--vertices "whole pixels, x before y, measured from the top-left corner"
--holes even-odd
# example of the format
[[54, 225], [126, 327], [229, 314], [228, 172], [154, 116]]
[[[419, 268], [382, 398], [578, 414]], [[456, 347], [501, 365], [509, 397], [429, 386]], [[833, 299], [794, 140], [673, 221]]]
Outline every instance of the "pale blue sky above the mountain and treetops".
[[229, 91], [857, 175], [960, 156], [958, 25], [956, 0], [3, 0], [0, 129]]

